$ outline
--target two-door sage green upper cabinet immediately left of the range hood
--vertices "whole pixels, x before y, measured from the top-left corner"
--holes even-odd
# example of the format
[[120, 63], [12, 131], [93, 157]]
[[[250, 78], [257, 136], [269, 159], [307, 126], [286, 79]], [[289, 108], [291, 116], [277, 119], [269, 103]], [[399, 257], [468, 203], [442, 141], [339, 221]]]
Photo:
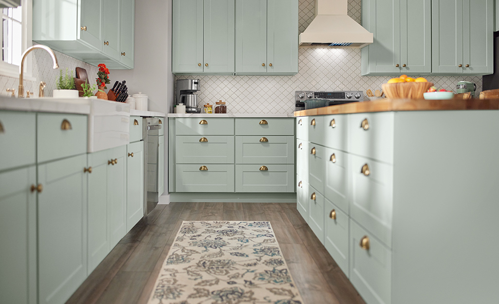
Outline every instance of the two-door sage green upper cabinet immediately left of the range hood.
[[236, 0], [236, 74], [298, 73], [298, 0]]

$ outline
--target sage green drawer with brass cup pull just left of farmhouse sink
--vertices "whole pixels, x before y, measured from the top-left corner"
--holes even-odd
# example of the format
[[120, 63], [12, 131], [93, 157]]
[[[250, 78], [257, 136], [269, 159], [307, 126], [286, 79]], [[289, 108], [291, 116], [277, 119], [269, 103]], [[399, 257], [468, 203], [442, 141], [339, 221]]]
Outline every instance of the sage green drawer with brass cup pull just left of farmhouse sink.
[[37, 114], [38, 162], [87, 152], [87, 116]]

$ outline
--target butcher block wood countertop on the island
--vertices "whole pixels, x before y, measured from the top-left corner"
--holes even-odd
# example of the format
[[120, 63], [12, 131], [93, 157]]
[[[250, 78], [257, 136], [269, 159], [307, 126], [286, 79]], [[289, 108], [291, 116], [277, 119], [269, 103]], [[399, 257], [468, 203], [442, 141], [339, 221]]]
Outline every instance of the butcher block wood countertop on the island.
[[352, 114], [390, 111], [456, 111], [456, 110], [499, 110], [499, 99], [474, 100], [416, 100], [384, 99], [377, 101], [352, 102], [310, 110], [296, 111], [294, 116], [330, 114]]

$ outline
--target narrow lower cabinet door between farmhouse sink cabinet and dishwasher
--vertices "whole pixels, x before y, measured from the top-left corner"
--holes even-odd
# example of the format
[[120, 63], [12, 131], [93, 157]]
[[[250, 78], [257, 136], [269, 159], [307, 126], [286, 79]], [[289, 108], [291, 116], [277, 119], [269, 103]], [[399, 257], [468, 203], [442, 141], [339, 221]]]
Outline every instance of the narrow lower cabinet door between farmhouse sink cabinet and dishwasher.
[[127, 146], [127, 231], [144, 215], [144, 142]]

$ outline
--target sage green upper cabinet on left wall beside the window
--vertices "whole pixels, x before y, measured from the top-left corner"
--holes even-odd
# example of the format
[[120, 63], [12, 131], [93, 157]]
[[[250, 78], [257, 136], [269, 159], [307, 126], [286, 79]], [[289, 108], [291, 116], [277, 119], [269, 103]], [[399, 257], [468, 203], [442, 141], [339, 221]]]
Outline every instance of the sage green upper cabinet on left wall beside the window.
[[92, 65], [131, 69], [134, 5], [134, 0], [33, 1], [33, 41]]

